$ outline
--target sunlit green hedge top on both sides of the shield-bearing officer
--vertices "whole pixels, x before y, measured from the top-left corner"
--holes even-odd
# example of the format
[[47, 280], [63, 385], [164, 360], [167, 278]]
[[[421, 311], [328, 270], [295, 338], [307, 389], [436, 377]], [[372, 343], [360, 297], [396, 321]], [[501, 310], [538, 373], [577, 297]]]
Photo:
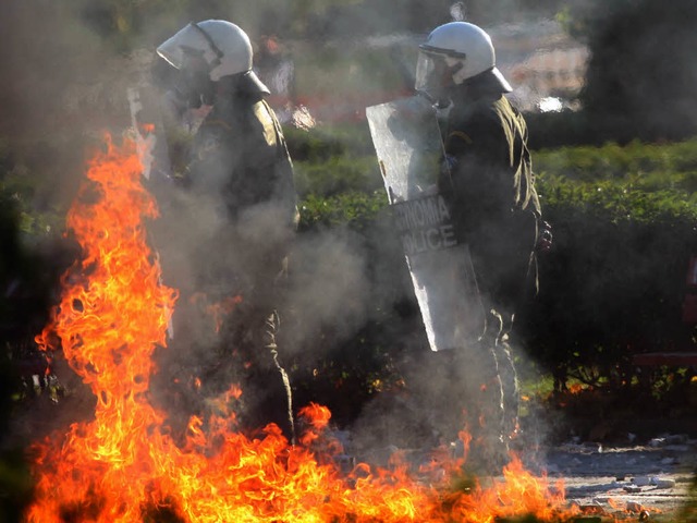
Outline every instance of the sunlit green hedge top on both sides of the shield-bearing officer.
[[[298, 192], [307, 198], [306, 223], [337, 223], [356, 217], [358, 207], [379, 208], [382, 181], [363, 125], [288, 134], [292, 156], [302, 158], [295, 168]], [[535, 151], [534, 166], [548, 212], [564, 207], [615, 224], [697, 220], [697, 138], [542, 149]], [[378, 205], [356, 207], [359, 200]], [[343, 212], [343, 205], [354, 210]]]

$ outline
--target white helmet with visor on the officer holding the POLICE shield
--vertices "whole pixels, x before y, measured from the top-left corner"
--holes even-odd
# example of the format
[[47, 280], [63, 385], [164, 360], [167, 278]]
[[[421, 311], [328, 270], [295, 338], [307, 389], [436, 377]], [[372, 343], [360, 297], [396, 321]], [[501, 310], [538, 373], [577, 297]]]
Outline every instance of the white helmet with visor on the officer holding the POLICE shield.
[[478, 74], [490, 72], [503, 93], [513, 90], [496, 66], [491, 38], [467, 22], [450, 22], [436, 27], [419, 46], [415, 89], [431, 94], [447, 83], [460, 85]]

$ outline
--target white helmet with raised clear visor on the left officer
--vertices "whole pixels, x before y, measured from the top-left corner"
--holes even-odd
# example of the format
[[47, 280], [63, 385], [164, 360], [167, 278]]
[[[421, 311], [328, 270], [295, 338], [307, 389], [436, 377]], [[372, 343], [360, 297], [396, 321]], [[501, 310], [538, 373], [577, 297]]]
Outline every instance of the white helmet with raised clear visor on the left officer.
[[248, 73], [261, 90], [268, 92], [252, 71], [253, 51], [249, 37], [231, 22], [192, 22], [161, 44], [157, 53], [178, 70], [185, 65], [188, 56], [199, 56], [208, 64], [208, 75], [212, 82], [218, 82], [224, 76]]

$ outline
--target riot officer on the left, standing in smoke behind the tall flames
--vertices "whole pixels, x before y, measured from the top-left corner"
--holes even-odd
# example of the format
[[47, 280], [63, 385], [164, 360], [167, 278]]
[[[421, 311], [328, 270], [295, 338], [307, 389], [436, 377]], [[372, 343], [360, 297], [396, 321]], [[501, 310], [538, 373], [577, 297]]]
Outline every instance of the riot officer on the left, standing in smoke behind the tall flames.
[[[186, 208], [184, 221], [195, 231], [185, 246], [194, 259], [191, 281], [175, 281], [185, 288], [180, 305], [191, 313], [191, 304], [203, 295], [208, 313], [224, 309], [224, 321], [215, 328], [222, 333], [218, 344], [224, 357], [236, 357], [237, 373], [244, 369], [243, 419], [250, 426], [276, 422], [292, 438], [290, 385], [278, 358], [276, 330], [279, 282], [298, 215], [285, 139], [265, 101], [269, 89], [252, 69], [247, 34], [228, 21], [191, 23], [157, 53], [178, 72], [166, 97], [170, 117], [208, 109], [179, 178], [180, 204], [186, 202], [179, 210]], [[184, 229], [176, 231], [180, 238]], [[191, 320], [186, 316], [180, 320]], [[174, 340], [179, 330], [196, 343], [188, 326], [178, 329], [176, 319]], [[212, 361], [201, 372], [220, 374], [220, 366]], [[230, 372], [229, 364], [222, 367]]]

